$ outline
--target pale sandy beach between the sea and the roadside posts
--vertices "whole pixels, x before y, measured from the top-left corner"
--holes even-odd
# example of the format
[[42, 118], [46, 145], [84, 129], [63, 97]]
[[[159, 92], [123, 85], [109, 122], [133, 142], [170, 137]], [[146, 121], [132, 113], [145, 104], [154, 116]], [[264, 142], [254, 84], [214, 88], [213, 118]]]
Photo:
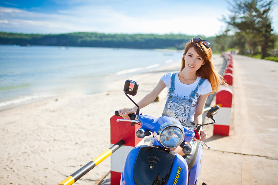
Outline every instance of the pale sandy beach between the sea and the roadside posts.
[[[223, 58], [213, 55], [217, 68]], [[130, 76], [139, 83], [139, 101], [167, 72], [179, 71], [180, 63]], [[0, 184], [57, 184], [110, 147], [110, 117], [115, 110], [133, 107], [124, 95], [126, 79], [113, 81], [106, 92], [66, 94], [20, 105], [0, 112]], [[97, 88], [97, 87], [96, 87]], [[141, 113], [160, 117], [166, 89], [159, 101]], [[94, 184], [110, 171], [110, 157], [75, 184]]]

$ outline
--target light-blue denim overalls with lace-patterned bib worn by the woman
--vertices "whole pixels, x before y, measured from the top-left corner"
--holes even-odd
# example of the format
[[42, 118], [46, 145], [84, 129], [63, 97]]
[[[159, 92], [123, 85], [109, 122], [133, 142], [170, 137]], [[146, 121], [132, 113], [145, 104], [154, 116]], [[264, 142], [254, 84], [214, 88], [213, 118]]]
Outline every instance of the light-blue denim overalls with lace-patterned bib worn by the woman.
[[167, 101], [162, 113], [162, 116], [174, 117], [181, 122], [182, 125], [187, 127], [194, 127], [193, 122], [188, 120], [189, 114], [192, 107], [193, 99], [198, 91], [200, 85], [203, 84], [204, 79], [201, 78], [199, 84], [195, 88], [194, 91], [191, 92], [189, 98], [181, 98], [177, 96], [173, 96], [173, 92], [175, 90], [175, 76], [178, 73], [173, 73], [171, 77], [171, 87], [169, 88], [169, 92], [167, 95]]

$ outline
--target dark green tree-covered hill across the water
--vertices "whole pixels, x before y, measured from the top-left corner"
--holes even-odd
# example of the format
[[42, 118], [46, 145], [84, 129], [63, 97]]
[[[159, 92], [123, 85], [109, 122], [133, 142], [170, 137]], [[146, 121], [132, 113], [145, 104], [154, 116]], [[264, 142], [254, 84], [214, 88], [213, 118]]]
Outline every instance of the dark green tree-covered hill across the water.
[[192, 39], [192, 36], [182, 34], [156, 35], [77, 32], [43, 35], [0, 32], [0, 44], [16, 45], [184, 49], [185, 44], [190, 39]]

